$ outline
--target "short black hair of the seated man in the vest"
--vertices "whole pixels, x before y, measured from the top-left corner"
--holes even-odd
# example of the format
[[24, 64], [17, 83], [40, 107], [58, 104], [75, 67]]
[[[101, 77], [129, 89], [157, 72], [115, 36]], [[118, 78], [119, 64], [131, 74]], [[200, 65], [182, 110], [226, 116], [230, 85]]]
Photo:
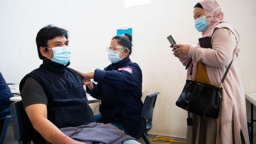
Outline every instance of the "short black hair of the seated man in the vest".
[[[47, 46], [47, 41], [52, 40], [58, 36], [65, 36], [66, 39], [68, 40], [69, 38], [69, 33], [67, 30], [63, 28], [59, 28], [57, 26], [53, 26], [52, 24], [49, 24], [38, 31], [36, 35], [36, 46], [37, 46], [37, 51], [38, 51], [38, 56], [40, 59], [44, 59], [45, 57], [41, 54], [40, 52], [40, 47], [48, 47]], [[45, 49], [47, 52], [48, 49]]]

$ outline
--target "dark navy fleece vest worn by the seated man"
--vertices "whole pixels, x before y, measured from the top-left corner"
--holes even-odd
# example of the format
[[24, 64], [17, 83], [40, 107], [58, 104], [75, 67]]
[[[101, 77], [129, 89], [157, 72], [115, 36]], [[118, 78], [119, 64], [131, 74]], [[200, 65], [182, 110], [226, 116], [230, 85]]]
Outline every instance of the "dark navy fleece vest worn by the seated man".
[[[48, 59], [19, 85], [20, 91], [28, 76], [35, 78], [45, 90], [48, 99], [47, 119], [58, 128], [76, 127], [95, 122], [83, 87], [81, 76], [71, 68]], [[22, 97], [22, 95], [21, 95]]]

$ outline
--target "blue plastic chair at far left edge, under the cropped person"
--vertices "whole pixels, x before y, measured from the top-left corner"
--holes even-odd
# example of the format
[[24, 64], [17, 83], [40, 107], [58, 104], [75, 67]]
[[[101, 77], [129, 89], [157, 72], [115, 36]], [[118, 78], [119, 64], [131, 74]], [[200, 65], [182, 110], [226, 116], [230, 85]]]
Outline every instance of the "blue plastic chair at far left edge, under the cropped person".
[[1, 116], [0, 120], [2, 122], [2, 125], [0, 127], [0, 130], [1, 130], [0, 144], [3, 144], [5, 141], [7, 127], [8, 127], [9, 122], [12, 121], [12, 117], [11, 117], [11, 115], [5, 115], [5, 116]]

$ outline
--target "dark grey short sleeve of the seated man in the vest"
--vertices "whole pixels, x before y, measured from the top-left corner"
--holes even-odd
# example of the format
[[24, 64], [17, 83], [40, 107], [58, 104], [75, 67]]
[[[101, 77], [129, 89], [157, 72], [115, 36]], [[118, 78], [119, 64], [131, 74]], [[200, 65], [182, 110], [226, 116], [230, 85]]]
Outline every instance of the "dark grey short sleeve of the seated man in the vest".
[[21, 98], [24, 109], [31, 104], [47, 105], [48, 102], [43, 86], [33, 77], [26, 78], [21, 90]]

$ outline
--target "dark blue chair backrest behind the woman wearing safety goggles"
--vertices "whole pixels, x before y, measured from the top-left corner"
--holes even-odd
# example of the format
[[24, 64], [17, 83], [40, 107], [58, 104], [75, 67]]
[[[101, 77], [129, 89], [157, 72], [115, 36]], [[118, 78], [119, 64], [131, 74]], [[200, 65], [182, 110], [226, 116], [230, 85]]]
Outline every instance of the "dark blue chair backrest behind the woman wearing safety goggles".
[[139, 139], [143, 133], [146, 133], [151, 129], [153, 111], [154, 111], [154, 106], [156, 104], [156, 97], [158, 94], [160, 94], [160, 92], [154, 92], [146, 96], [142, 106], [142, 111], [140, 114], [140, 118], [141, 118], [140, 129], [135, 135], [135, 139]]

